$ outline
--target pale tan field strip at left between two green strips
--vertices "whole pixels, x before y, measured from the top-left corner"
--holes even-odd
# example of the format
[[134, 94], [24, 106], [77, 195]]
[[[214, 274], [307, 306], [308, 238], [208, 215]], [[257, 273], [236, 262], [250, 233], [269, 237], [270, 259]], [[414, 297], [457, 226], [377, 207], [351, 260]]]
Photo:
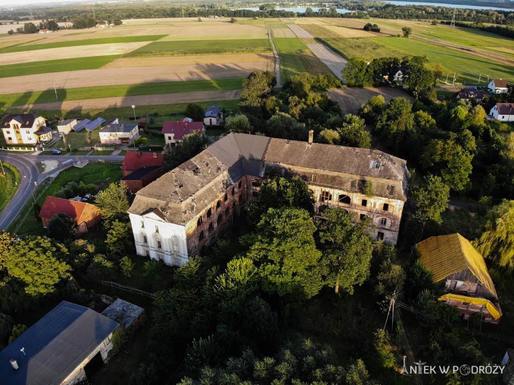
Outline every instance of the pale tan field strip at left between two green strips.
[[115, 43], [115, 44], [94, 44], [88, 46], [47, 48], [34, 51], [0, 53], [0, 65], [38, 62], [41, 57], [51, 57], [52, 60], [69, 59], [69, 57], [90, 57], [105, 55], [121, 55], [133, 51], [148, 42]]

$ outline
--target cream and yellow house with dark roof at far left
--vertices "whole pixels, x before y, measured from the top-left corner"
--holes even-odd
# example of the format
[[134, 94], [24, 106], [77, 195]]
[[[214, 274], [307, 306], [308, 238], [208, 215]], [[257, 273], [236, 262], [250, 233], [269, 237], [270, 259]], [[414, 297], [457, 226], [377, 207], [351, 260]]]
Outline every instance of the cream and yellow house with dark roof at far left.
[[7, 144], [38, 144], [52, 139], [52, 130], [45, 126], [45, 118], [35, 113], [10, 113], [0, 127]]

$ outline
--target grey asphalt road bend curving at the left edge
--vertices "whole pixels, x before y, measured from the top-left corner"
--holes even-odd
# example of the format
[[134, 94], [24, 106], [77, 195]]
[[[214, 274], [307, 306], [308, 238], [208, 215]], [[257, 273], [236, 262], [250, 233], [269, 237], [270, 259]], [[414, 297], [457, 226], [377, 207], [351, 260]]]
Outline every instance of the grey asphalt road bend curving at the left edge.
[[0, 213], [0, 231], [5, 230], [14, 218], [20, 213], [20, 210], [30, 198], [31, 186], [34, 187], [34, 182], [38, 182], [39, 170], [34, 162], [27, 159], [25, 156], [0, 153], [0, 160], [12, 164], [20, 171], [20, 186], [16, 190], [14, 196], [11, 198], [7, 206]]

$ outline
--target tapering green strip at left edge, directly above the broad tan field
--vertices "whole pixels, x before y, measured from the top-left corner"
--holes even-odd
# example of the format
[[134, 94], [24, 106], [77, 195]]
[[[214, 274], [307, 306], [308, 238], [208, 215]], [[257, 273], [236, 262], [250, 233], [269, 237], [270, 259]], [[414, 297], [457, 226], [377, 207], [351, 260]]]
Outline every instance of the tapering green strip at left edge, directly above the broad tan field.
[[[78, 71], [81, 69], [98, 69], [120, 55], [77, 57], [74, 59], [45, 60], [42, 62], [7, 64], [0, 66], [0, 78], [9, 76], [35, 75], [38, 73]], [[31, 92], [29, 92], [31, 93]], [[2, 107], [2, 102], [0, 102]]]

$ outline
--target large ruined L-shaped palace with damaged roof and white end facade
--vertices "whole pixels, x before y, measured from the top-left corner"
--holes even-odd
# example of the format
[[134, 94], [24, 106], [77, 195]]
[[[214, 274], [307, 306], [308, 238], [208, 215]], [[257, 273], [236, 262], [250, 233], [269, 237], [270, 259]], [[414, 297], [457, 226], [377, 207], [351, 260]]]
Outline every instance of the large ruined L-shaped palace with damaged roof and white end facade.
[[[299, 176], [316, 214], [341, 206], [372, 219], [370, 235], [396, 243], [409, 171], [385, 152], [229, 133], [139, 190], [128, 214], [137, 253], [182, 265], [212, 244], [266, 175]], [[365, 186], [372, 182], [370, 194]]]

